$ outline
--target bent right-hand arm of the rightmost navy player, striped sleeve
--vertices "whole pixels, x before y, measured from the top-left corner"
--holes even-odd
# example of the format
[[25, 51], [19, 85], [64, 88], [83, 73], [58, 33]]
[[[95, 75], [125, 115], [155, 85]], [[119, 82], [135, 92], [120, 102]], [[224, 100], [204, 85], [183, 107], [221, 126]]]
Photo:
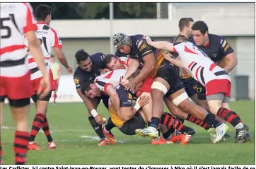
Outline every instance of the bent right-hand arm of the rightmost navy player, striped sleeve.
[[223, 40], [221, 49], [225, 56], [225, 59], [227, 60], [227, 63], [223, 69], [225, 69], [225, 71], [229, 73], [238, 64], [238, 58], [235, 56], [235, 52], [226, 40]]

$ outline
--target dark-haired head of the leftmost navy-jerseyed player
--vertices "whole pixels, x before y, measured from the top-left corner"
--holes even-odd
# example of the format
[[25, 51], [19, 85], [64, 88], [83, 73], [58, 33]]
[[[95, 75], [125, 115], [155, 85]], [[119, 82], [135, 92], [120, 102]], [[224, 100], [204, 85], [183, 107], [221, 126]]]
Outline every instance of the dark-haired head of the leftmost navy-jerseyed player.
[[86, 72], [91, 72], [93, 64], [91, 62], [89, 54], [85, 52], [84, 49], [78, 50], [75, 54], [75, 57], [76, 63], [78, 64], [80, 69]]

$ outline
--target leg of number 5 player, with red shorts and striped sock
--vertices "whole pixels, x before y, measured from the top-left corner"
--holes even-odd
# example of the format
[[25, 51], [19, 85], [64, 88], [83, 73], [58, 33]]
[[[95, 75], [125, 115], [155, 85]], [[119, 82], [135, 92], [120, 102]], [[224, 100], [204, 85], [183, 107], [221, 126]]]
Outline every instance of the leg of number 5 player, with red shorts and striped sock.
[[[30, 105], [30, 72], [18, 78], [6, 79], [7, 97], [13, 121], [15, 123], [15, 136], [13, 139], [13, 152], [16, 164], [25, 164], [28, 151], [28, 109]], [[21, 90], [22, 88], [22, 90]]]

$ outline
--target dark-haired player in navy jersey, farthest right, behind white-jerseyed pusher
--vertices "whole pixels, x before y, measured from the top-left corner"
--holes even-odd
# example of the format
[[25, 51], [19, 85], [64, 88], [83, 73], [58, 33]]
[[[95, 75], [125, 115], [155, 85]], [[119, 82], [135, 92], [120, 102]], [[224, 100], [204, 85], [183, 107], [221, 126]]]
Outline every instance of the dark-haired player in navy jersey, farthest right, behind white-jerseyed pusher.
[[[209, 34], [208, 26], [204, 21], [197, 21], [192, 25], [192, 35], [192, 42], [226, 72], [230, 73], [238, 64], [238, 59], [235, 57], [231, 45], [223, 37]], [[205, 92], [204, 86], [197, 84], [199, 104], [209, 110]]]

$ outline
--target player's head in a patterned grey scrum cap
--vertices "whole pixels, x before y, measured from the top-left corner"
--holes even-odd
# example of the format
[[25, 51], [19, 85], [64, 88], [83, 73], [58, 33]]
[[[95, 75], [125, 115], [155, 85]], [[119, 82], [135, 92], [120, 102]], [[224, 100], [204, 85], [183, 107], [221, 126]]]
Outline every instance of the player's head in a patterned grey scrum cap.
[[113, 36], [113, 43], [121, 53], [129, 54], [131, 52], [132, 40], [131, 37], [124, 33], [116, 33]]

